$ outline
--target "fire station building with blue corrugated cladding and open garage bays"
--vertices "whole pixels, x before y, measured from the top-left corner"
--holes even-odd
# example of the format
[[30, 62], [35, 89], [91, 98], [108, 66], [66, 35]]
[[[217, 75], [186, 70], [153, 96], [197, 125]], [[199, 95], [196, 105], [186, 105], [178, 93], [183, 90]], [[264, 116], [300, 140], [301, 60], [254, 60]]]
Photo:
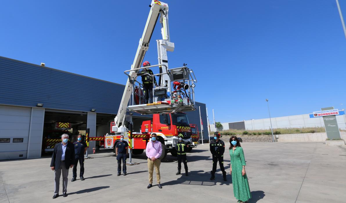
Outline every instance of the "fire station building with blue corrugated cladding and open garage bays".
[[[103, 136], [118, 112], [125, 85], [0, 56], [0, 160], [39, 158], [61, 134]], [[124, 77], [124, 80], [127, 78]], [[125, 83], [125, 82], [124, 82]], [[208, 138], [206, 104], [201, 107], [203, 139]], [[200, 129], [199, 111], [187, 112]], [[139, 131], [152, 115], [133, 115]], [[89, 143], [89, 153], [95, 141]]]

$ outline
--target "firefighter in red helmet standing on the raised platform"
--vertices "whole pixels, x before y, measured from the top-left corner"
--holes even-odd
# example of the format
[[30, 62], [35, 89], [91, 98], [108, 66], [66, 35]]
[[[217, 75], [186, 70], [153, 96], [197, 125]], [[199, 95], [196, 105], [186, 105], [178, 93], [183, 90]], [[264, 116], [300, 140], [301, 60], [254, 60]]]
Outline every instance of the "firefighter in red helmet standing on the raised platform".
[[[148, 61], [143, 62], [143, 67], [150, 66], [150, 63]], [[149, 75], [148, 75], [149, 74]], [[137, 76], [142, 77], [142, 83], [143, 83], [143, 91], [144, 91], [144, 99], [145, 103], [153, 103], [153, 77], [154, 77], [154, 83], [156, 86], [156, 78], [155, 76], [152, 76], [154, 73], [149, 68], [144, 68], [142, 71], [140, 71]]]

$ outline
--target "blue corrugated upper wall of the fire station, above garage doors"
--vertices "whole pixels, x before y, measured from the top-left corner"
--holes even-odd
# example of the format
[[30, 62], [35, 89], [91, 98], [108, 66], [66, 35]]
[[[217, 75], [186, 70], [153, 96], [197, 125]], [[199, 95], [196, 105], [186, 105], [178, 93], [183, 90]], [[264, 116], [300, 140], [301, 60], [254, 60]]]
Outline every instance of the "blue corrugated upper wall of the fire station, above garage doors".
[[117, 114], [125, 85], [0, 57], [0, 104]]

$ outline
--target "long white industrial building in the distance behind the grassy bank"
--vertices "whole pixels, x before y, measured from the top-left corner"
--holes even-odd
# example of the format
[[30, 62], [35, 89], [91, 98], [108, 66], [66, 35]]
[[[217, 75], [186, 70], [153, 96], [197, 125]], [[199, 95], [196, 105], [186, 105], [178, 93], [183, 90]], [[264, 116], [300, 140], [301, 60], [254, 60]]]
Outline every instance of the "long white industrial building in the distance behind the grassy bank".
[[[294, 116], [274, 117], [271, 118], [273, 129], [276, 128], [303, 128], [303, 127], [324, 127], [323, 117], [311, 118], [311, 114], [302, 114]], [[346, 116], [344, 111], [336, 116], [339, 129], [346, 130]], [[223, 130], [269, 130], [270, 119], [252, 119], [238, 122], [221, 123]], [[213, 125], [211, 125], [211, 130]]]

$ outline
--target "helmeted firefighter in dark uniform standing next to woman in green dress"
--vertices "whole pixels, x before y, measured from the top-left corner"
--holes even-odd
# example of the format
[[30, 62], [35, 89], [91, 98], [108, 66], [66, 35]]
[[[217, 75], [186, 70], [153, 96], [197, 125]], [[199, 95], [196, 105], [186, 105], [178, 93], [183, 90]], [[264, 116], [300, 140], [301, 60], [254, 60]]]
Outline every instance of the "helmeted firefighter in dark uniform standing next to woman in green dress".
[[225, 143], [224, 141], [220, 140], [220, 133], [215, 132], [214, 133], [214, 139], [210, 141], [210, 152], [213, 156], [213, 169], [211, 171], [211, 178], [210, 180], [215, 179], [215, 172], [216, 172], [216, 164], [219, 161], [220, 169], [222, 171], [222, 176], [224, 177], [224, 180], [226, 181], [226, 171], [224, 167], [224, 152], [225, 152]]

